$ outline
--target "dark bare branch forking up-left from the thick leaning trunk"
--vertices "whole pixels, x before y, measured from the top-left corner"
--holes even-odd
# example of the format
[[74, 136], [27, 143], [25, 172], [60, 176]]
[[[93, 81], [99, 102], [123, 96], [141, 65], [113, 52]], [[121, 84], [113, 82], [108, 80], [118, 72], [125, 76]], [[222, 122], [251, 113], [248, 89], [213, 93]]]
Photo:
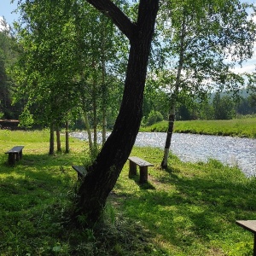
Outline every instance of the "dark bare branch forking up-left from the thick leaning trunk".
[[110, 0], [86, 0], [102, 14], [107, 15], [119, 30], [129, 39], [135, 31], [136, 25]]

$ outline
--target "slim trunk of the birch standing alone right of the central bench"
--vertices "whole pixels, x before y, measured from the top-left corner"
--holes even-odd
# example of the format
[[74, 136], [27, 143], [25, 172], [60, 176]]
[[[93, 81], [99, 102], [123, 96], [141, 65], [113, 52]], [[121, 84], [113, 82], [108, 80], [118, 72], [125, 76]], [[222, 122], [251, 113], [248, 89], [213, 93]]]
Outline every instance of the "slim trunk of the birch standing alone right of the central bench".
[[172, 133], [173, 133], [173, 125], [175, 121], [175, 106], [177, 102], [177, 95], [178, 95], [178, 90], [179, 90], [179, 85], [180, 85], [180, 80], [181, 80], [181, 73], [183, 70], [183, 60], [184, 60], [184, 38], [186, 36], [186, 26], [185, 26], [185, 19], [186, 16], [183, 14], [183, 23], [182, 23], [182, 28], [181, 28], [181, 35], [180, 35], [180, 49], [179, 49], [179, 60], [178, 60], [178, 67], [177, 67], [177, 75], [176, 75], [176, 81], [175, 81], [175, 87], [174, 87], [174, 92], [172, 95], [172, 104], [170, 108], [170, 114], [169, 114], [169, 123], [168, 123], [168, 131], [166, 135], [166, 145], [165, 145], [165, 150], [164, 150], [164, 157], [161, 162], [161, 167], [163, 169], [167, 169], [168, 166], [168, 156], [169, 156], [169, 151], [171, 147], [171, 142], [172, 142]]

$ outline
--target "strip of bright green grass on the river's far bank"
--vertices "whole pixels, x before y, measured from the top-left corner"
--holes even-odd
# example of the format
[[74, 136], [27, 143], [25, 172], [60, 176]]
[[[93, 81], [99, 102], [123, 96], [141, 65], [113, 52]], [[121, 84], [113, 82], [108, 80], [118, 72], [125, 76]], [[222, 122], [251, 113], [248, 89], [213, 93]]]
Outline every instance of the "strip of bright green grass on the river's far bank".
[[[167, 126], [167, 121], [162, 121], [141, 131], [166, 132]], [[256, 118], [175, 121], [174, 132], [256, 138]]]

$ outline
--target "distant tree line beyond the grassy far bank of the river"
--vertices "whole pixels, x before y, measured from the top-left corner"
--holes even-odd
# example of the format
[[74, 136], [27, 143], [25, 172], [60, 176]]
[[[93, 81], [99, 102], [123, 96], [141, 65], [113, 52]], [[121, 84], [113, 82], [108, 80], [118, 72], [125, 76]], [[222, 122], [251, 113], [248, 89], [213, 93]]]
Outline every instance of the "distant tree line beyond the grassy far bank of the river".
[[[170, 95], [163, 91], [154, 94], [154, 98], [146, 96], [144, 101], [143, 125], [153, 125], [167, 119]], [[166, 98], [166, 100], [163, 100]], [[216, 92], [201, 100], [183, 95], [177, 103], [177, 120], [194, 119], [234, 119], [240, 115], [256, 114], [256, 93], [253, 90], [240, 90], [235, 95]]]

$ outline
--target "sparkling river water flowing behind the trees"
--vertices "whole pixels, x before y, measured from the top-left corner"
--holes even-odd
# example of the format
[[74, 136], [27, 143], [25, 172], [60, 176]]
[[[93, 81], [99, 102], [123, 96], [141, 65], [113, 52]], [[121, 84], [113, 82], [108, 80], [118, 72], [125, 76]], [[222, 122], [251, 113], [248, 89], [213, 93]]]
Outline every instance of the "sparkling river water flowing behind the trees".
[[[73, 132], [71, 136], [87, 140], [85, 132]], [[135, 145], [164, 148], [165, 142], [166, 132], [139, 132]], [[256, 176], [256, 139], [174, 133], [171, 149], [183, 161], [216, 159], [239, 166], [247, 177]]]

